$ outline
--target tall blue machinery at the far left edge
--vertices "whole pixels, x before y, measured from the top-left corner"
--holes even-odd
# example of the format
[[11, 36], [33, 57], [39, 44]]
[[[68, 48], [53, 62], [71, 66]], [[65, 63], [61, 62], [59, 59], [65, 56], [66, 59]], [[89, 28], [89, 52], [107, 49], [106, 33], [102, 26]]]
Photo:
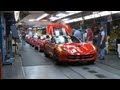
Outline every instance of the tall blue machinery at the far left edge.
[[[14, 61], [12, 53], [12, 34], [10, 27], [3, 13], [0, 13], [0, 49], [2, 51], [2, 64], [12, 64]], [[8, 24], [8, 25], [6, 25]]]

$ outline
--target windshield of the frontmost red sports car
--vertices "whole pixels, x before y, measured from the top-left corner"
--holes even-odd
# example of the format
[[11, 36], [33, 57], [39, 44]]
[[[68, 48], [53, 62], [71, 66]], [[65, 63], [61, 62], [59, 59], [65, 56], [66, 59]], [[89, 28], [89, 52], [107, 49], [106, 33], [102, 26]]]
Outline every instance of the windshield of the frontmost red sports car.
[[74, 36], [56, 36], [55, 37], [55, 43], [57, 44], [63, 44], [63, 43], [80, 43], [80, 41], [74, 37]]

